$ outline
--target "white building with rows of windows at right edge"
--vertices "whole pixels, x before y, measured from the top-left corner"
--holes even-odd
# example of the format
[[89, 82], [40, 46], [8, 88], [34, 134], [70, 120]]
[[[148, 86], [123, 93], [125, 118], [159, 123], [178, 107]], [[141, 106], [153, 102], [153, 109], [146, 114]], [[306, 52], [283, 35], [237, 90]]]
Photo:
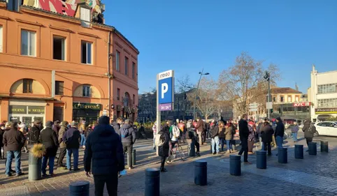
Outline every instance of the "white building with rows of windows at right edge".
[[337, 116], [337, 70], [318, 73], [313, 66], [308, 100], [313, 103], [311, 119], [324, 120]]

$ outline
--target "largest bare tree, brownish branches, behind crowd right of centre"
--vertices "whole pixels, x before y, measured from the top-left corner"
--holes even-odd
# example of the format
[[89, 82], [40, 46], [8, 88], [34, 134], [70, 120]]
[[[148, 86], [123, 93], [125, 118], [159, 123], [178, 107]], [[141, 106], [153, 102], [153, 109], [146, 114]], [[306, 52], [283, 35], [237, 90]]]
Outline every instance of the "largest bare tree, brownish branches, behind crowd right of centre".
[[278, 79], [278, 68], [271, 64], [266, 70], [262, 66], [263, 61], [257, 61], [248, 53], [242, 52], [236, 57], [234, 66], [220, 73], [219, 95], [222, 100], [232, 100], [237, 114], [248, 112], [248, 105], [257, 102], [265, 106], [267, 83], [264, 80], [266, 70], [271, 74], [273, 81]]

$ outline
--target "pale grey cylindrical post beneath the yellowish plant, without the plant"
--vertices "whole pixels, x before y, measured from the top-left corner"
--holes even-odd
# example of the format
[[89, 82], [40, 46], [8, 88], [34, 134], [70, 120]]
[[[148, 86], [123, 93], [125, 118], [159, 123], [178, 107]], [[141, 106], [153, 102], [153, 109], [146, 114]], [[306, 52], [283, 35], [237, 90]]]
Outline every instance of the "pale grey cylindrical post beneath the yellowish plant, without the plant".
[[36, 158], [32, 153], [28, 157], [28, 179], [37, 181], [42, 179], [42, 158]]

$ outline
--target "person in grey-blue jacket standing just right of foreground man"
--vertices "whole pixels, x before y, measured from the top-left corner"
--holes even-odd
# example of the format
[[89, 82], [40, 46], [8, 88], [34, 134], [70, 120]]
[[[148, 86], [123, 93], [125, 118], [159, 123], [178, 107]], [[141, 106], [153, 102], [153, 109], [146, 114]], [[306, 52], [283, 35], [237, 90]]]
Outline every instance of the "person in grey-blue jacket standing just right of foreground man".
[[120, 135], [122, 137], [123, 151], [127, 151], [129, 169], [132, 169], [132, 149], [134, 143], [136, 142], [136, 131], [134, 127], [130, 124], [130, 120], [126, 119], [124, 125], [120, 128]]

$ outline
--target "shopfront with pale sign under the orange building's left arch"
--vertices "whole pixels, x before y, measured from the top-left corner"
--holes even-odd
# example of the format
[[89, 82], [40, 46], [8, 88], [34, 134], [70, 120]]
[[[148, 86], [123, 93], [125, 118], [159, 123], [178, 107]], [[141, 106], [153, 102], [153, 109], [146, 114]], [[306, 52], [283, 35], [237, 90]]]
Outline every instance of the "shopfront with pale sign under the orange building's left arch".
[[44, 123], [45, 106], [9, 105], [8, 121], [21, 121], [30, 125], [36, 120]]

